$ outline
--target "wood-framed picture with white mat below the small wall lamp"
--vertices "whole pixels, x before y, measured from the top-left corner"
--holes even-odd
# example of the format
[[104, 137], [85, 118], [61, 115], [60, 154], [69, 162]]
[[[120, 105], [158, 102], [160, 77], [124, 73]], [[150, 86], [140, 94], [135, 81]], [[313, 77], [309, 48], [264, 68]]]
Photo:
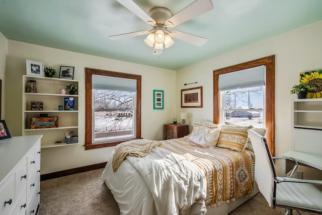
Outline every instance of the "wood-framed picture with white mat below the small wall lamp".
[[181, 90], [182, 108], [202, 108], [202, 87]]

